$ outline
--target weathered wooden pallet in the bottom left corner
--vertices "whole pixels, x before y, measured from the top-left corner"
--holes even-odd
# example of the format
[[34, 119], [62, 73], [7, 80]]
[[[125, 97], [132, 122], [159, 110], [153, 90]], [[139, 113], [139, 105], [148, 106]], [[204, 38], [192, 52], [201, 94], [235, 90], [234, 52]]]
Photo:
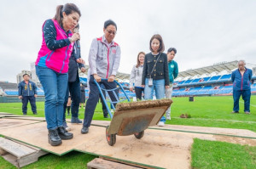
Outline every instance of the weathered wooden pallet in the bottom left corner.
[[42, 149], [0, 137], [0, 155], [18, 168], [36, 162], [39, 156], [46, 154]]

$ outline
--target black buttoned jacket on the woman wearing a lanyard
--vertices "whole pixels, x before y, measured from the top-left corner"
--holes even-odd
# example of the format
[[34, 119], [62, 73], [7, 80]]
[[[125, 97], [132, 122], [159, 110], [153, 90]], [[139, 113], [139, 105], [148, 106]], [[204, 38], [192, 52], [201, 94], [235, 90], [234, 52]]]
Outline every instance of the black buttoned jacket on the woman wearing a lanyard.
[[[157, 63], [154, 66], [156, 61]], [[153, 70], [153, 67], [154, 67], [154, 70]], [[158, 55], [153, 55], [152, 53], [146, 54], [144, 59], [144, 65], [143, 65], [142, 85], [145, 85], [145, 79], [150, 78], [150, 75], [151, 75], [151, 78], [153, 78], [154, 80], [165, 79], [165, 85], [169, 86], [168, 63], [167, 63], [167, 55], [165, 53], [160, 53]]]

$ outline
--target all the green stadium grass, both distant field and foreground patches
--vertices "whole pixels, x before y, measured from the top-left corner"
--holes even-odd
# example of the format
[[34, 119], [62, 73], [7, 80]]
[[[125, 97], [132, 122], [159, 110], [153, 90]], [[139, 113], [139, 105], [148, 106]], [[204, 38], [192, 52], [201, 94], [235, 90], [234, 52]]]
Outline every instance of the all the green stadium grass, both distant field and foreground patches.
[[[44, 103], [38, 102], [37, 106], [38, 115], [33, 116], [44, 116]], [[195, 97], [194, 102], [189, 102], [189, 98], [173, 98], [172, 120], [166, 121], [166, 124], [237, 128], [256, 132], [256, 95], [251, 98], [251, 115], [243, 113], [242, 100], [239, 114], [230, 114], [232, 107], [232, 96]], [[21, 103], [0, 104], [0, 111], [22, 115]], [[30, 107], [27, 114], [32, 115]], [[79, 114], [79, 118], [83, 119], [84, 109], [80, 109]], [[191, 118], [179, 118], [181, 114], [189, 114]], [[97, 104], [93, 119], [110, 121], [103, 118], [101, 104]], [[250, 146], [195, 139], [191, 153], [193, 168], [255, 168], [253, 166], [256, 164], [256, 148]], [[85, 168], [87, 161], [93, 158], [95, 156], [77, 152], [61, 157], [44, 155], [38, 162], [24, 168]], [[2, 167], [15, 168], [1, 157], [0, 168]]]

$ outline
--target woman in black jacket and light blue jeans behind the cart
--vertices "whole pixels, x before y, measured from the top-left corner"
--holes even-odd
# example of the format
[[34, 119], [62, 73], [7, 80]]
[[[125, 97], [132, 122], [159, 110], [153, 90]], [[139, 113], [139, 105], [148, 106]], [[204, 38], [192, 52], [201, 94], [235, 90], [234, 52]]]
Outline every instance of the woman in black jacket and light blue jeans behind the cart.
[[[151, 37], [149, 42], [151, 53], [146, 54], [143, 65], [143, 82], [145, 87], [145, 99], [164, 99], [166, 88], [169, 87], [167, 55], [163, 53], [165, 45], [159, 34]], [[165, 125], [166, 118], [163, 116], [159, 126]]]

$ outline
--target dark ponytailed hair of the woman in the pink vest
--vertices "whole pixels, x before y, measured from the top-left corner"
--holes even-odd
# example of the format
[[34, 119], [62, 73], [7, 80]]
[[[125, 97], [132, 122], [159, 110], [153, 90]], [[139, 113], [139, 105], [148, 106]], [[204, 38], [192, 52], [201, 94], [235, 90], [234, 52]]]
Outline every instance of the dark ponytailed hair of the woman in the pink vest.
[[63, 20], [63, 12], [65, 12], [67, 15], [72, 14], [73, 12], [76, 12], [81, 16], [81, 12], [79, 8], [73, 4], [73, 3], [66, 3], [65, 5], [59, 5], [56, 8], [56, 14], [53, 20], [57, 20], [59, 25], [62, 25], [62, 20]]

